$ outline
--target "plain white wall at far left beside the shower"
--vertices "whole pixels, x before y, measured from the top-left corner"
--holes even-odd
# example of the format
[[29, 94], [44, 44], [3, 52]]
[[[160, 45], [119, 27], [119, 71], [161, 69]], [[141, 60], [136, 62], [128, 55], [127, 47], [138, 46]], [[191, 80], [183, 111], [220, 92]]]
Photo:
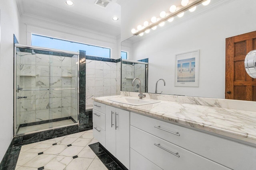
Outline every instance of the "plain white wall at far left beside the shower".
[[0, 160], [13, 136], [13, 34], [19, 40], [20, 15], [16, 0], [0, 1]]

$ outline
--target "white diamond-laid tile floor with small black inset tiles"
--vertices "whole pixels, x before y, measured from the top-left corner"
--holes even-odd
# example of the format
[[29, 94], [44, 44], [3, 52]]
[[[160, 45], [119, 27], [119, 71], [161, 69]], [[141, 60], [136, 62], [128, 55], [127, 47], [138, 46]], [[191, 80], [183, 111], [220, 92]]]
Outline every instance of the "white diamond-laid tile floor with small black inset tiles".
[[15, 170], [107, 170], [88, 145], [92, 130], [23, 145]]

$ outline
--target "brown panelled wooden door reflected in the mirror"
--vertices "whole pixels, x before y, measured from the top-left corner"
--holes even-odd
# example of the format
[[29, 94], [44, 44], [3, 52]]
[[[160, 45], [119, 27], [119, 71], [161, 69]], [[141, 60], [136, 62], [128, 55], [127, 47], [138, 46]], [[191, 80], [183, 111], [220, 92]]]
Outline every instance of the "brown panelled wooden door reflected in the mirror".
[[256, 79], [244, 68], [246, 54], [256, 49], [256, 31], [226, 39], [226, 99], [256, 101]]

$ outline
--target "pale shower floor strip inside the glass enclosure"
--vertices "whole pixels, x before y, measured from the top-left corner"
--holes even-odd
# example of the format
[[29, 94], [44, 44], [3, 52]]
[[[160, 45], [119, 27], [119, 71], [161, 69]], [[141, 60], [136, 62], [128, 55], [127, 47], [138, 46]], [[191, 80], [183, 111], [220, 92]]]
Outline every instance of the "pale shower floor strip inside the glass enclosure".
[[54, 122], [51, 122], [51, 123], [43, 123], [43, 124], [40, 124], [40, 125], [20, 127], [17, 134], [23, 134], [23, 133], [32, 132], [32, 131], [48, 129], [49, 127], [58, 127], [58, 126], [62, 126], [62, 125], [70, 125], [70, 124], [73, 124], [73, 123], [74, 122], [71, 119], [68, 119], [68, 120], [62, 120], [62, 121], [54, 121]]

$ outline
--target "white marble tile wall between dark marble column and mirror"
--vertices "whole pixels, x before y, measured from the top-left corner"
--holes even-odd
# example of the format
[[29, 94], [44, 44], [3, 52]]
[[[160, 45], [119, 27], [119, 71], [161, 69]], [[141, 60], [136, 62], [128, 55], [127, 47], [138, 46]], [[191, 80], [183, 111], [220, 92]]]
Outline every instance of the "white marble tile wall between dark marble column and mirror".
[[86, 108], [91, 108], [93, 97], [120, 94], [120, 62], [86, 59]]

